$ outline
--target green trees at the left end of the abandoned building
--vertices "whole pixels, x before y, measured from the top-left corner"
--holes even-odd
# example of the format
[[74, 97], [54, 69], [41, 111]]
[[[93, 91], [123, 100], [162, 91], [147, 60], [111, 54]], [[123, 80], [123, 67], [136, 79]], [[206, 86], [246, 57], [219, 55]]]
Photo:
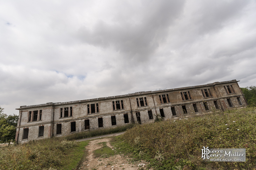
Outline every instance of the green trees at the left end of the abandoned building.
[[11, 142], [15, 140], [18, 115], [9, 115], [4, 113], [0, 106], [0, 143]]

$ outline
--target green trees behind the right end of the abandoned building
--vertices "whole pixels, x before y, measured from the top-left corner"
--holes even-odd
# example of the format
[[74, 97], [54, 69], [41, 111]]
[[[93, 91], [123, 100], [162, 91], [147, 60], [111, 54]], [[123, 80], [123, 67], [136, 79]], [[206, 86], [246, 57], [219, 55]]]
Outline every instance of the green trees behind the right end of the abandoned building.
[[256, 106], [256, 86], [241, 88], [249, 106]]

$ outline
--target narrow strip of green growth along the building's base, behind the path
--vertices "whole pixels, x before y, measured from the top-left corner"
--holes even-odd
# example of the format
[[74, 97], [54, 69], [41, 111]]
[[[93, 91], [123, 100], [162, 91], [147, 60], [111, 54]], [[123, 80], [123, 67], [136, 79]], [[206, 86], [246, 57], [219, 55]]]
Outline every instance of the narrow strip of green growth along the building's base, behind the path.
[[77, 140], [77, 139], [90, 138], [93, 136], [100, 136], [100, 135], [112, 134], [112, 133], [117, 133], [117, 132], [124, 132], [127, 129], [132, 128], [133, 126], [134, 126], [134, 124], [128, 124], [126, 126], [117, 126], [115, 128], [100, 129], [100, 130], [93, 130], [93, 131], [83, 131], [80, 133], [67, 135], [67, 136], [65, 136], [65, 139]]

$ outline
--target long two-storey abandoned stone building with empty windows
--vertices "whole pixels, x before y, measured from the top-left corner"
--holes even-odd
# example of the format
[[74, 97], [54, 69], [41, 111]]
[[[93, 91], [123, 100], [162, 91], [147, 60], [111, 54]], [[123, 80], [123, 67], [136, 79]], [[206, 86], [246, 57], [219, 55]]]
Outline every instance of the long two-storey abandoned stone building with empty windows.
[[127, 95], [63, 103], [20, 106], [15, 140], [62, 136], [130, 123], [150, 123], [156, 117], [179, 118], [212, 110], [247, 106], [238, 81], [142, 91]]

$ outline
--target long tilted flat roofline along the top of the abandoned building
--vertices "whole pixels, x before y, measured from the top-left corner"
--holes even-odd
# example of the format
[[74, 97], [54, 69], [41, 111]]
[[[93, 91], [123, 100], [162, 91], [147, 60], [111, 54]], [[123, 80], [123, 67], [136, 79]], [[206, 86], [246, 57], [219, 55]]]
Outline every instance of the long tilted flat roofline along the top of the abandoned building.
[[111, 99], [111, 98], [139, 96], [139, 95], [144, 95], [144, 94], [155, 94], [155, 93], [161, 93], [161, 92], [165, 92], [165, 91], [176, 91], [176, 90], [185, 90], [185, 89], [191, 89], [191, 88], [201, 88], [201, 87], [215, 86], [216, 84], [225, 84], [225, 83], [231, 83], [231, 82], [238, 82], [238, 81], [231, 80], [231, 81], [214, 82], [214, 83], [210, 83], [210, 84], [204, 84], [204, 85], [198, 85], [198, 86], [189, 86], [189, 87], [181, 87], [181, 88], [174, 88], [174, 89], [155, 90], [155, 91], [140, 91], [140, 92], [130, 93], [130, 94], [127, 94], [127, 95], [100, 97], [100, 98], [85, 99], [85, 100], [72, 101], [72, 102], [57, 102], [57, 103], [50, 102], [50, 103], [46, 103], [46, 104], [20, 106], [20, 108], [18, 108], [16, 110], [21, 110], [21, 109], [26, 109], [26, 108], [35, 108], [35, 107], [41, 107], [41, 106], [52, 106], [52, 105], [56, 106], [56, 105], [72, 104], [72, 103], [85, 103], [85, 102], [99, 101], [99, 100], [105, 100], [105, 99]]

